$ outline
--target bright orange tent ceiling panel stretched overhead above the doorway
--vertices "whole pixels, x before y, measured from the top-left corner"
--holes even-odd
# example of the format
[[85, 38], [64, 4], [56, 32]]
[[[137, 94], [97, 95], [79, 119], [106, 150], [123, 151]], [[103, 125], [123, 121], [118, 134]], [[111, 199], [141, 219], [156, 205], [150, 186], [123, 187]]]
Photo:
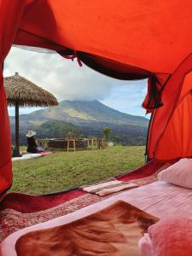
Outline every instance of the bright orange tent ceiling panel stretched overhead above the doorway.
[[[190, 0], [30, 2], [20, 32], [68, 49], [154, 73], [173, 73], [192, 51]], [[30, 44], [20, 32], [15, 44]]]

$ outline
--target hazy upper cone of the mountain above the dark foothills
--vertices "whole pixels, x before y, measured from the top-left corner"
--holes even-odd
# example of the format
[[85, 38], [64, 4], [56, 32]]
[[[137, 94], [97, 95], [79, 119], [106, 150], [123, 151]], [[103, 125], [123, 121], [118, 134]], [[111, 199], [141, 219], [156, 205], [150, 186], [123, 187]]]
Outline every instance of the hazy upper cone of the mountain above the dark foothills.
[[109, 108], [98, 101], [63, 101], [59, 106], [30, 114], [38, 119], [65, 120], [75, 124], [90, 122], [147, 127], [148, 119]]

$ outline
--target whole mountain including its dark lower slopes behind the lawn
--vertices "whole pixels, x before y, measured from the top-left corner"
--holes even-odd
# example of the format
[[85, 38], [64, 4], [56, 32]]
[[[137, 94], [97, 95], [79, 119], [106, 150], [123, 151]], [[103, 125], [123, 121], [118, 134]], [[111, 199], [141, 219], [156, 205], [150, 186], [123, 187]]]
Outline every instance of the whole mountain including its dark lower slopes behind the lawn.
[[[15, 118], [10, 117], [12, 137]], [[148, 119], [121, 113], [98, 101], [63, 101], [59, 106], [20, 115], [20, 141], [26, 143], [26, 131], [37, 131], [38, 137], [102, 137], [103, 127], [112, 130], [111, 139], [125, 145], [144, 144]]]

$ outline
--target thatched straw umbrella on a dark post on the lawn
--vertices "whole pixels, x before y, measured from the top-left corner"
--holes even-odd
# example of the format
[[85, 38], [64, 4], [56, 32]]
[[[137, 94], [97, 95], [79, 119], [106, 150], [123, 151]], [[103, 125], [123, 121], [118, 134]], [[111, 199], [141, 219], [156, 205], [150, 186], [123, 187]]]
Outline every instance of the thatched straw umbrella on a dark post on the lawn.
[[58, 102], [47, 90], [20, 77], [19, 73], [4, 78], [4, 87], [8, 105], [15, 106], [15, 155], [20, 156], [19, 108], [50, 107], [58, 105]]

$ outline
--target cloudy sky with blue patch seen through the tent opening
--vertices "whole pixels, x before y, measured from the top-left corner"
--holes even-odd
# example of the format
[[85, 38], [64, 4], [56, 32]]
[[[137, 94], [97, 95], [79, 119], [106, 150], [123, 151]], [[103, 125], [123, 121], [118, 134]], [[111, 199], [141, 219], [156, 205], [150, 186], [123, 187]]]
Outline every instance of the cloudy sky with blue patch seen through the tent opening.
[[[146, 80], [121, 81], [79, 67], [76, 60], [58, 54], [37, 53], [12, 47], [5, 60], [4, 77], [14, 75], [31, 80], [49, 90], [59, 102], [62, 100], [98, 100], [124, 113], [145, 116], [141, 107], [147, 90]], [[20, 108], [20, 113], [31, 113], [38, 108]], [[14, 108], [9, 108], [14, 115]]]

